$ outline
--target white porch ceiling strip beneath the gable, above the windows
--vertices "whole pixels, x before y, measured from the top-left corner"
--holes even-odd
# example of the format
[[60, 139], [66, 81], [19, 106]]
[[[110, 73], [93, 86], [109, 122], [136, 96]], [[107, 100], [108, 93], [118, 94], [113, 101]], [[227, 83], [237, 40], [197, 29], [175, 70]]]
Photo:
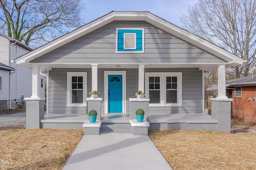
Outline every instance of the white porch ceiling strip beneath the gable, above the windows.
[[[217, 70], [218, 63], [211, 64], [180, 64], [180, 63], [165, 63], [165, 64], [145, 64], [144, 68], [198, 68], [206, 72]], [[40, 63], [40, 70], [52, 70], [52, 68], [92, 68], [91, 64], [52, 64]], [[139, 68], [139, 63], [98, 63], [98, 68]]]

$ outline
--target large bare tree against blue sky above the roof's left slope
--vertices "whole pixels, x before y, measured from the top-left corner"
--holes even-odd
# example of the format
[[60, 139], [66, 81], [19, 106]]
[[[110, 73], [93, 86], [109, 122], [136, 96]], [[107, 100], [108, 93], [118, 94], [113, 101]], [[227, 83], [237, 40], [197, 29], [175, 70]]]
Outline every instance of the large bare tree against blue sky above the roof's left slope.
[[0, 7], [0, 32], [26, 45], [39, 46], [82, 22], [81, 0], [0, 0]]

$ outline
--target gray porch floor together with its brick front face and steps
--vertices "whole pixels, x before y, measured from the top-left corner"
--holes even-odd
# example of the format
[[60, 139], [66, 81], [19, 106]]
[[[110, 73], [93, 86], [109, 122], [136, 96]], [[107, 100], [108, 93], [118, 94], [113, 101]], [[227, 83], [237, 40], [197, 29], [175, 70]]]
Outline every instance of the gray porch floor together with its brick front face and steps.
[[[130, 114], [101, 114], [101, 118], [103, 127], [101, 133], [130, 132]], [[85, 120], [86, 114], [48, 113], [44, 115], [44, 119], [40, 120], [40, 128], [82, 129]], [[204, 113], [150, 113], [148, 122], [149, 130], [216, 130], [217, 126], [217, 120]]]

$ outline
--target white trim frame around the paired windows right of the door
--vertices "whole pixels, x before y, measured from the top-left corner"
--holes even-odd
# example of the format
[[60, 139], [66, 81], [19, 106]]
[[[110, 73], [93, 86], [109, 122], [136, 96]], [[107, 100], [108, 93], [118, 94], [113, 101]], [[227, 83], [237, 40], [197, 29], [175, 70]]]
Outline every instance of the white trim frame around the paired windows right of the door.
[[[182, 72], [146, 72], [145, 73], [146, 98], [149, 98], [148, 78], [150, 76], [160, 77], [160, 104], [149, 104], [150, 107], [182, 106]], [[177, 84], [177, 103], [166, 104], [166, 76], [177, 76], [177, 83], [178, 83]]]

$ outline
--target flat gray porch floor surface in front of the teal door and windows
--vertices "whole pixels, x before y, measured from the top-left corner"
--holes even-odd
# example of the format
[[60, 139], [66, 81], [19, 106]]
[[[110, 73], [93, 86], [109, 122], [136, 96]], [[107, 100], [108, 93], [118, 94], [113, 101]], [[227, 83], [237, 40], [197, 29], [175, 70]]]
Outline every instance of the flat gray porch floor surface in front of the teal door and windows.
[[[101, 114], [102, 123], [130, 123], [129, 114]], [[48, 113], [40, 123], [84, 123], [85, 114]], [[205, 113], [149, 114], [149, 123], [217, 123]]]

